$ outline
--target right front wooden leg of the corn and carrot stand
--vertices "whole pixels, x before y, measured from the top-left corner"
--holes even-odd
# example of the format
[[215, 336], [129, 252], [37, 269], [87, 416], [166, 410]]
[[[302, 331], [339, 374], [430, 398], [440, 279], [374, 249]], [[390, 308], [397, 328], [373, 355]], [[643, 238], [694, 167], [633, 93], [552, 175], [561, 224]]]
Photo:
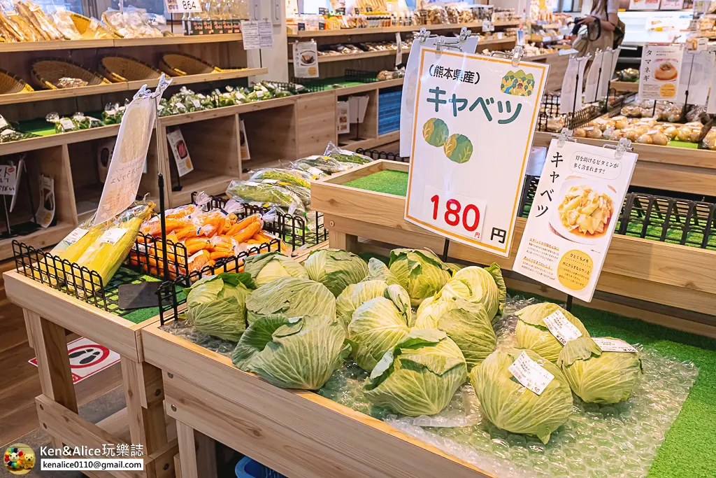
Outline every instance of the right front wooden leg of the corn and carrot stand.
[[168, 441], [161, 371], [148, 363], [137, 363], [126, 357], [120, 358], [120, 363], [132, 444], [142, 444], [147, 456]]

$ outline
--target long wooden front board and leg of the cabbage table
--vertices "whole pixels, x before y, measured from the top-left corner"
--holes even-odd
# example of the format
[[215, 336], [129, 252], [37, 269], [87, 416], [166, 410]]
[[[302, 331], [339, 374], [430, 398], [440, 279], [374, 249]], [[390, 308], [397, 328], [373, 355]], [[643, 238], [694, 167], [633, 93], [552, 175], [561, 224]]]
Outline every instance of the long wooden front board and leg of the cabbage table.
[[142, 330], [142, 343], [145, 360], [163, 371], [183, 478], [216, 477], [197, 467], [211, 460], [205, 453], [197, 457], [195, 431], [202, 440], [220, 441], [291, 478], [489, 476], [329, 398], [272, 386], [156, 323]]

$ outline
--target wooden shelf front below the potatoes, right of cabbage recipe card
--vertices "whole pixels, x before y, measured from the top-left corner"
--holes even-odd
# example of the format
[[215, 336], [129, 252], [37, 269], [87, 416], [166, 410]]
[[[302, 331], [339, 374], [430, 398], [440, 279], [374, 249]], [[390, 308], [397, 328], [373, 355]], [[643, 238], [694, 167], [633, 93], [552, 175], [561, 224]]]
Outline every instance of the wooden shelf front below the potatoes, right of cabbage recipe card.
[[[533, 145], [549, 146], [551, 133], [535, 133]], [[579, 138], [580, 143], [596, 146], [616, 145], [616, 141]], [[634, 168], [632, 186], [716, 195], [716, 151], [632, 143], [639, 161]]]

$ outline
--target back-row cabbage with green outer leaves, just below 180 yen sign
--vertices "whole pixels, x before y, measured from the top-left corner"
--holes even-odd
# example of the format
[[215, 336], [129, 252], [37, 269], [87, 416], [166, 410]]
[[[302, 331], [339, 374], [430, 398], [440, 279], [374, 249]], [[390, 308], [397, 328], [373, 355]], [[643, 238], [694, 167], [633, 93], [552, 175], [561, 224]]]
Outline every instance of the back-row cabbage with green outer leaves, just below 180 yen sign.
[[420, 249], [393, 249], [388, 267], [410, 294], [414, 307], [435, 295], [450, 279], [450, 268], [432, 252]]

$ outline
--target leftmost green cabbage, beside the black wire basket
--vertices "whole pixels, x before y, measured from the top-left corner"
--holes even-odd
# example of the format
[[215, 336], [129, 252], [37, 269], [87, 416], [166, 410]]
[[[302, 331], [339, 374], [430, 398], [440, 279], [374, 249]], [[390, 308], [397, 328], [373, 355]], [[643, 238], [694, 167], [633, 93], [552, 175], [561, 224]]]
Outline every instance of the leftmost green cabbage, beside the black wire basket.
[[236, 342], [246, 330], [246, 296], [253, 287], [245, 272], [203, 277], [189, 287], [186, 320], [199, 332]]

